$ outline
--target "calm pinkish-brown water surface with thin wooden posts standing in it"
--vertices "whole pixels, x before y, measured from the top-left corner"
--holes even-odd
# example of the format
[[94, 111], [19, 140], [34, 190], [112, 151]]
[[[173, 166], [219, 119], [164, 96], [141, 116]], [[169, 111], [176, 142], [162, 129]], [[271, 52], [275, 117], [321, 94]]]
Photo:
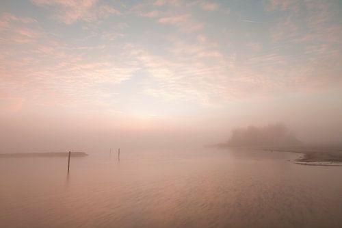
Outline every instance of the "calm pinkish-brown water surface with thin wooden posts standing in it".
[[342, 227], [342, 167], [267, 151], [0, 159], [0, 227]]

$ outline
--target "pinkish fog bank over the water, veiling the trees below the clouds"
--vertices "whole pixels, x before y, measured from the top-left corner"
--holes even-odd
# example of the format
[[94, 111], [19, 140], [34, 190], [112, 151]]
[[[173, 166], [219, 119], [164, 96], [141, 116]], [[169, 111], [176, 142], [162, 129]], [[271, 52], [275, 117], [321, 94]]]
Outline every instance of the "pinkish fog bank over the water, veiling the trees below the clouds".
[[[292, 144], [295, 138], [308, 144], [341, 144], [342, 107], [337, 94], [332, 91], [290, 98], [246, 98], [192, 109], [177, 107], [156, 116], [116, 113], [96, 105], [61, 107], [53, 102], [39, 105], [27, 101], [20, 109], [1, 109], [0, 153], [107, 153], [118, 147], [137, 151], [189, 149], [229, 139], [231, 144]], [[145, 110], [157, 112], [157, 108]], [[262, 138], [250, 138], [254, 134]]]

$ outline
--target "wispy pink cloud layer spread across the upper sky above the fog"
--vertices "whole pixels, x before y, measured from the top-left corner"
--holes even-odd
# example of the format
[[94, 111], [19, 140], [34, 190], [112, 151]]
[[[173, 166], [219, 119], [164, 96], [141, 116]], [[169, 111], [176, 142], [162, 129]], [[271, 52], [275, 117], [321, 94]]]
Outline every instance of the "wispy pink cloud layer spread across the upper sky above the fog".
[[[34, 3], [66, 24], [120, 14], [100, 1]], [[81, 36], [68, 25], [50, 29], [34, 16], [2, 14], [0, 90], [31, 101], [113, 103], [120, 100], [118, 85], [144, 75], [139, 90], [148, 96], [210, 105], [339, 84], [336, 5], [268, 4], [272, 12], [261, 11], [272, 21], [259, 26], [223, 14], [223, 3], [214, 1], [144, 1], [127, 4], [127, 14], [105, 25], [75, 23]]]

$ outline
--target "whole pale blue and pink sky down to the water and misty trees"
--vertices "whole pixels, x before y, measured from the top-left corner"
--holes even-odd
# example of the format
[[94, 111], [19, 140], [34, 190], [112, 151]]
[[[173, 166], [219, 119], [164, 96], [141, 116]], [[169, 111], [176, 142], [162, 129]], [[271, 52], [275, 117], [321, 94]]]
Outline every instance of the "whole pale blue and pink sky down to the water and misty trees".
[[0, 2], [0, 153], [342, 141], [342, 2]]

